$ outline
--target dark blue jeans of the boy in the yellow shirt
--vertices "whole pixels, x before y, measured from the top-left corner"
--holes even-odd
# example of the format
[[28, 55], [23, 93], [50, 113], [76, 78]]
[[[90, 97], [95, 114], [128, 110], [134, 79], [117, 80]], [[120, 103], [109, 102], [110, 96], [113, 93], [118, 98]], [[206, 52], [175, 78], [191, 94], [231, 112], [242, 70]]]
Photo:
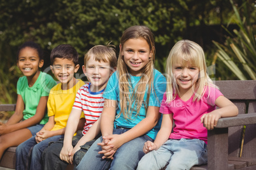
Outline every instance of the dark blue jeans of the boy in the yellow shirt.
[[49, 142], [57, 141], [59, 138], [63, 138], [63, 135], [52, 136], [39, 143], [36, 143], [35, 137], [36, 135], [32, 136], [16, 148], [15, 169], [43, 169], [43, 162], [41, 161], [43, 151], [48, 147]]

